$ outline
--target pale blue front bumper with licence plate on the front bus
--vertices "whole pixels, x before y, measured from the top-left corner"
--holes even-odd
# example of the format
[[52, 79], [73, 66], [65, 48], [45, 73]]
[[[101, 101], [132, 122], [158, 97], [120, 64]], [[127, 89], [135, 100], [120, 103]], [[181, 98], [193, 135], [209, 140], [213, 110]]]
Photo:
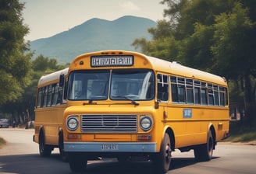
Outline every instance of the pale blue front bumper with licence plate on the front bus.
[[66, 152], [156, 152], [155, 142], [64, 142]]

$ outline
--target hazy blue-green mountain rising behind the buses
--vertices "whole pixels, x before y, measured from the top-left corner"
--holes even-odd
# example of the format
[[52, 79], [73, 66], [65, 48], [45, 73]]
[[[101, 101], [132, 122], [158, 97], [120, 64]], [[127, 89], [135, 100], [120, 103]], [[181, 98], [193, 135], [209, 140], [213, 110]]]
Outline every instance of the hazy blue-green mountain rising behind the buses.
[[113, 21], [94, 18], [52, 37], [31, 41], [30, 50], [35, 51], [34, 58], [42, 54], [65, 64], [91, 51], [135, 50], [131, 46], [133, 41], [141, 37], [150, 40], [148, 28], [156, 25], [151, 19], [136, 16], [123, 16]]

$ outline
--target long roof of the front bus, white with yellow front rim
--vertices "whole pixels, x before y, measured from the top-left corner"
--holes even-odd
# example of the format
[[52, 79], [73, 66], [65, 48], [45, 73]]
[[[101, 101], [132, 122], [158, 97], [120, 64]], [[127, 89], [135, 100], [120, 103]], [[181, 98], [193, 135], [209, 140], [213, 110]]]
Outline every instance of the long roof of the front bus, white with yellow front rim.
[[101, 50], [96, 51], [92, 53], [87, 54], [81, 54], [78, 57], [76, 57], [72, 64], [79, 64], [80, 60], [83, 57], [90, 57], [95, 55], [134, 55], [135, 57], [143, 57], [145, 60], [148, 61], [148, 67], [152, 68], [154, 71], [161, 71], [162, 73], [169, 73], [171, 75], [180, 76], [183, 78], [194, 78], [195, 80], [201, 80], [204, 82], [212, 82], [218, 85], [224, 85], [226, 86], [226, 79], [222, 78], [218, 75], [213, 75], [211, 73], [208, 73], [206, 71], [197, 70], [194, 68], [189, 68], [187, 66], [184, 66], [176, 61], [165, 61], [157, 57], [151, 57], [145, 54], [140, 54], [133, 51], [126, 51], [126, 50]]

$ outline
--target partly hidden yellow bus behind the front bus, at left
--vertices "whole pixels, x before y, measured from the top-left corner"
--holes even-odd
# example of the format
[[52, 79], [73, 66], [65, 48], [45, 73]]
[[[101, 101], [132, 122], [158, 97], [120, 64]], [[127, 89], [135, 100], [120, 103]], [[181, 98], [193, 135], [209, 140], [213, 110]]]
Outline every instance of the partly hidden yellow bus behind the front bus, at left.
[[59, 82], [59, 77], [67, 77], [69, 68], [43, 75], [37, 84], [37, 99], [35, 107], [34, 142], [39, 144], [41, 156], [51, 155], [54, 148], [63, 152], [63, 111], [67, 107], [64, 98], [65, 81]]

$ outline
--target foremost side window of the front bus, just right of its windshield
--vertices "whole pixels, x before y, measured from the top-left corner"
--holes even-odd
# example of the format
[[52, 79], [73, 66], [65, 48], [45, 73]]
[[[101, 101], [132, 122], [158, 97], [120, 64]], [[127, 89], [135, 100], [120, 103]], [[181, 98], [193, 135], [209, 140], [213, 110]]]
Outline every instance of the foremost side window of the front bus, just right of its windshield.
[[158, 75], [158, 100], [168, 101], [169, 99], [169, 82], [167, 75]]

